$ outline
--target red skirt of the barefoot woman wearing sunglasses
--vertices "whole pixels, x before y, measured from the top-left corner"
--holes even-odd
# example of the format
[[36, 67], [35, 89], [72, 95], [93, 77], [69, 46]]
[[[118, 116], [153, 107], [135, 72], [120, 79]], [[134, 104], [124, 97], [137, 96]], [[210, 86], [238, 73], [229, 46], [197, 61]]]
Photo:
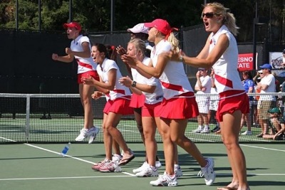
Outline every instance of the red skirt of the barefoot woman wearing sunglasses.
[[[243, 114], [249, 113], [249, 97], [247, 93], [243, 92], [242, 90], [228, 90], [219, 94], [220, 100], [216, 113], [216, 118], [219, 122], [223, 121], [222, 117], [226, 112], [232, 114], [237, 110], [241, 110]], [[241, 95], [237, 95], [239, 93], [241, 93]]]

